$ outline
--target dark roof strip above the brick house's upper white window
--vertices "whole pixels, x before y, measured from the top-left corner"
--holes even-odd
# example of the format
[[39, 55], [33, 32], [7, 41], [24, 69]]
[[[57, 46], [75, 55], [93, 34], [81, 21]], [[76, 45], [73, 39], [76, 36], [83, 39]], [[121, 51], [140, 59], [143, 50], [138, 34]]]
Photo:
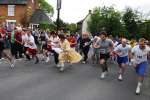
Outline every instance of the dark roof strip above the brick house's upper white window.
[[27, 4], [27, 0], [0, 0], [0, 5], [8, 5], [8, 4]]

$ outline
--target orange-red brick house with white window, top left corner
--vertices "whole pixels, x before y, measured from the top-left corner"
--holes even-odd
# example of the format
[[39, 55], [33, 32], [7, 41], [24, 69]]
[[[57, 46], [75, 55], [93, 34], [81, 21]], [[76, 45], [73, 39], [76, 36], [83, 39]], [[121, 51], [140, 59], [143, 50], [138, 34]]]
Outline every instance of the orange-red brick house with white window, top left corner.
[[0, 24], [25, 25], [38, 7], [38, 0], [0, 0]]

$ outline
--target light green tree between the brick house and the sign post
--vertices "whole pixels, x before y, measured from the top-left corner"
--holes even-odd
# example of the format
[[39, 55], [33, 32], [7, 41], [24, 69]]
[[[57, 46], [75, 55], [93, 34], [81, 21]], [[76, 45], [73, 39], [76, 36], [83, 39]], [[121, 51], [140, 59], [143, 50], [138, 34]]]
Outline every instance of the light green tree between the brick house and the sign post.
[[47, 3], [45, 0], [38, 0], [38, 1], [40, 9], [44, 10], [46, 13], [54, 14], [54, 9], [49, 3]]

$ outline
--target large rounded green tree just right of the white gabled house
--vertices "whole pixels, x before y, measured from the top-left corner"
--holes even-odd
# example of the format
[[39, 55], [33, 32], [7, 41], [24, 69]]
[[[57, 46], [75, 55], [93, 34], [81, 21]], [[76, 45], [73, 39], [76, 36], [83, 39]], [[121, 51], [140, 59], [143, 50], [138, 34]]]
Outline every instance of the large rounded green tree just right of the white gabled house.
[[118, 35], [121, 26], [121, 13], [112, 6], [94, 8], [88, 22], [88, 28], [92, 34], [105, 30], [109, 34]]

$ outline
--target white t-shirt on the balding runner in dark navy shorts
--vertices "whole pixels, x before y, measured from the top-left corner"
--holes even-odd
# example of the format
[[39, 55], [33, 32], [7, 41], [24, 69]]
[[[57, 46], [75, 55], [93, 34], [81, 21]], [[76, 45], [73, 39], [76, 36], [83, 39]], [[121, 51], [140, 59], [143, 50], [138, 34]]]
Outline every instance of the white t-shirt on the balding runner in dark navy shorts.
[[114, 51], [119, 52], [119, 57], [125, 57], [128, 56], [128, 52], [131, 49], [130, 45], [126, 45], [125, 47], [122, 46], [122, 44], [119, 44]]

